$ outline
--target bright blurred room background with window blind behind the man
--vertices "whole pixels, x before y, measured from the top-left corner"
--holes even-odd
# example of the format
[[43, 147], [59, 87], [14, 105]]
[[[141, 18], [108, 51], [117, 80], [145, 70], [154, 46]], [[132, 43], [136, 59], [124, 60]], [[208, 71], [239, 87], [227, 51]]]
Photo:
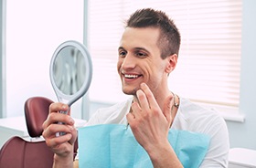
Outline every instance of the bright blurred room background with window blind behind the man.
[[73, 105], [71, 115], [88, 120], [95, 110], [125, 100], [117, 48], [125, 19], [143, 7], [165, 11], [181, 32], [170, 89], [218, 110], [227, 121], [230, 147], [256, 150], [254, 0], [0, 0], [0, 118], [23, 116], [29, 97], [57, 101], [49, 63], [69, 39], [85, 44], [93, 63], [89, 93]]

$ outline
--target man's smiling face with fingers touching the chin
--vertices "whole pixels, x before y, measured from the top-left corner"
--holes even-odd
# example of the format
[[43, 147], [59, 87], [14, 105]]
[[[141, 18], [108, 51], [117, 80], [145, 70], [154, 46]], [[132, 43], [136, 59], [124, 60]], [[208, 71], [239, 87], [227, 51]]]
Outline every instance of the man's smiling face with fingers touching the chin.
[[127, 27], [124, 30], [118, 49], [117, 69], [125, 94], [135, 95], [142, 82], [154, 94], [161, 89], [166, 75], [166, 59], [160, 57], [161, 51], [156, 45], [159, 33], [159, 29], [151, 27]]

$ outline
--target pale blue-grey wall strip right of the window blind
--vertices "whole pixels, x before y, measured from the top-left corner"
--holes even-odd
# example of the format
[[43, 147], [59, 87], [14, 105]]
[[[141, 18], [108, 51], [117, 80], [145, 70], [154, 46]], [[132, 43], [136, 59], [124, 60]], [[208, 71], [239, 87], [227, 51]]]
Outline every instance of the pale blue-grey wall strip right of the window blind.
[[243, 0], [240, 112], [245, 122], [228, 121], [231, 147], [256, 150], [256, 1]]

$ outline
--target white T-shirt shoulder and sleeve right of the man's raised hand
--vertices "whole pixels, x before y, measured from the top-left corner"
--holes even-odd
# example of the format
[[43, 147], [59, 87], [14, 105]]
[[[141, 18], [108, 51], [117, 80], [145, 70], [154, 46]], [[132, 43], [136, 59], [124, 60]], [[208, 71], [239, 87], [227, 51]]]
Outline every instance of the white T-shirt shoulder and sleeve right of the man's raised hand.
[[226, 167], [229, 154], [229, 132], [226, 121], [216, 110], [206, 109], [189, 100], [181, 99], [174, 127], [195, 131], [210, 137], [208, 153], [201, 167]]

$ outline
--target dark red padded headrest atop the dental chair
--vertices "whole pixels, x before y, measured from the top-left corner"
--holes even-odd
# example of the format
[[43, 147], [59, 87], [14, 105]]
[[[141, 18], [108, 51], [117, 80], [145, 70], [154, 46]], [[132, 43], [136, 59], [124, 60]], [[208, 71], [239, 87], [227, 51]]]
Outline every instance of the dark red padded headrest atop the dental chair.
[[44, 97], [32, 97], [26, 100], [24, 110], [30, 137], [42, 135], [42, 124], [48, 117], [48, 108], [52, 102], [52, 100]]

